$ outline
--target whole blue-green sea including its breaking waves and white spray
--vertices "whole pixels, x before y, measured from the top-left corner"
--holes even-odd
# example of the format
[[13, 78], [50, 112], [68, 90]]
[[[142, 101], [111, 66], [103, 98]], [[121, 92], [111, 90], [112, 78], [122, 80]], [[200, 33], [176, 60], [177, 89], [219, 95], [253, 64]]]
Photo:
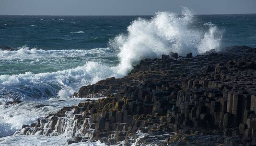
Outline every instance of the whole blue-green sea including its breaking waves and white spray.
[[[15, 48], [0, 50], [0, 145], [65, 145], [67, 135], [13, 134], [84, 101], [69, 97], [81, 86], [122, 78], [142, 59], [170, 52], [196, 56], [232, 45], [256, 47], [256, 14], [193, 15], [185, 9], [154, 16], [0, 15], [0, 46]], [[5, 105], [13, 100], [23, 102]]]

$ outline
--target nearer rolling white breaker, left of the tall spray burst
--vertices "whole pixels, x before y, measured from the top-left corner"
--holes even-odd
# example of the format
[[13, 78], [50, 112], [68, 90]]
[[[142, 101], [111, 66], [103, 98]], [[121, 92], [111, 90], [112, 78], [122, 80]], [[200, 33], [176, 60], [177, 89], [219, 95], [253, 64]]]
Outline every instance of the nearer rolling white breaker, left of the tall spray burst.
[[[44, 100], [56, 95], [65, 97], [79, 90], [81, 86], [93, 84], [101, 79], [117, 76], [113, 67], [101, 63], [88, 62], [84, 66], [57, 72], [34, 74], [26, 72], [18, 75], [0, 75], [0, 93], [16, 92], [27, 100]], [[17, 98], [19, 98], [17, 97]]]

